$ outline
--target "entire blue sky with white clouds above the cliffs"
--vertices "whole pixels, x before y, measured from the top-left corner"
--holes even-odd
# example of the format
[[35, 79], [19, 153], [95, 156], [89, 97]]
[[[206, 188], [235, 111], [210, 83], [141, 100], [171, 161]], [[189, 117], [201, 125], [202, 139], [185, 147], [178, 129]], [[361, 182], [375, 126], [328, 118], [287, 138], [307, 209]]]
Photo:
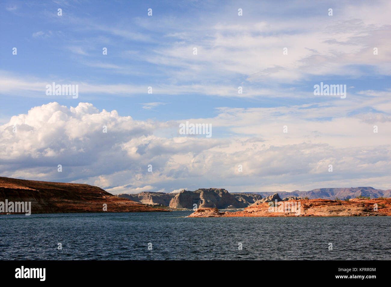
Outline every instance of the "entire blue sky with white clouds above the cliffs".
[[[0, 175], [113, 194], [391, 189], [390, 10], [2, 1]], [[321, 83], [346, 98], [314, 94]], [[180, 134], [186, 121], [212, 136]]]

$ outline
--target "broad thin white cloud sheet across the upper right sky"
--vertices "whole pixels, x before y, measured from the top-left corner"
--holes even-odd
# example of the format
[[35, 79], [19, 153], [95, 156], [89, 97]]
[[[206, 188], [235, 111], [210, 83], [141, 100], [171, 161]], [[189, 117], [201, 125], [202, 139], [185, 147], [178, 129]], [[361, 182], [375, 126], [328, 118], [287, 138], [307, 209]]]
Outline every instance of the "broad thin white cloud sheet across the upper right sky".
[[[252, 2], [251, 8], [265, 11], [264, 6], [270, 4]], [[145, 60], [167, 67], [173, 80], [194, 83], [238, 77], [244, 77], [247, 84], [295, 83], [310, 76], [358, 78], [367, 73], [362, 70], [364, 65], [371, 66], [375, 74], [391, 75], [391, 55], [373, 55], [373, 47], [385, 50], [388, 46], [391, 21], [384, 13], [390, 9], [388, 2], [345, 4], [332, 17], [327, 16], [327, 9], [322, 15], [319, 5], [314, 6], [314, 13], [305, 17], [295, 18], [299, 8], [289, 6], [279, 7], [273, 17], [261, 21], [252, 13], [253, 17], [247, 14], [246, 18], [221, 13], [208, 17], [206, 23], [185, 21], [180, 33], [166, 25], [167, 36], [178, 41], [158, 46]], [[223, 12], [228, 9], [233, 8], [222, 7]], [[291, 17], [284, 15], [288, 9]], [[192, 53], [194, 47], [197, 55]], [[283, 54], [285, 47], [287, 55]]]

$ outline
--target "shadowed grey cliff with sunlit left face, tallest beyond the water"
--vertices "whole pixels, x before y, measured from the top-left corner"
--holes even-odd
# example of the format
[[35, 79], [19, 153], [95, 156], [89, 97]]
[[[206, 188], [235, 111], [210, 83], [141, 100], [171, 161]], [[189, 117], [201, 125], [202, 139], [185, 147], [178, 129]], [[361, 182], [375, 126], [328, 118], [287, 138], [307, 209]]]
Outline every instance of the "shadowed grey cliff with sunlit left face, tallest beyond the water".
[[214, 207], [218, 209], [243, 208], [247, 206], [221, 188], [201, 188], [196, 191], [184, 189], [170, 201], [170, 207], [172, 208], [193, 209], [194, 204], [197, 207]]

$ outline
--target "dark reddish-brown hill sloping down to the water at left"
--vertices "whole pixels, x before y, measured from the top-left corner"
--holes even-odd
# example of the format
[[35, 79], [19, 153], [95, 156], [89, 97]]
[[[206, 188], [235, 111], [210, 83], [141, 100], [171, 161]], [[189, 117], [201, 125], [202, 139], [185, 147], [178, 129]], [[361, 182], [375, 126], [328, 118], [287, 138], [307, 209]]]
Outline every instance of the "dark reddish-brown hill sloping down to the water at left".
[[[31, 201], [31, 213], [167, 211], [119, 198], [88, 184], [43, 182], [0, 177], [0, 201]], [[4, 212], [0, 214], [5, 214]]]

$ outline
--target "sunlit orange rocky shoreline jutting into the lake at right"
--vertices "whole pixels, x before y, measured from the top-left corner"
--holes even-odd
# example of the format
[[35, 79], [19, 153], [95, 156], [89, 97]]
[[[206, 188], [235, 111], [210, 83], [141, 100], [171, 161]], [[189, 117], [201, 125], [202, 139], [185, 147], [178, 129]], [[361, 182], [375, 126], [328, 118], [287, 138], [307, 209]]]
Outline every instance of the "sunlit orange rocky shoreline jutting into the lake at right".
[[[293, 211], [269, 212], [267, 203], [255, 203], [236, 212], [219, 212], [217, 208], [199, 208], [187, 217], [391, 216], [391, 198], [373, 198], [370, 200], [355, 198], [349, 201], [317, 198], [296, 201], [300, 202], [300, 215], [296, 215]], [[283, 203], [284, 201], [279, 202]], [[374, 208], [375, 204], [377, 204], [377, 210]]]

